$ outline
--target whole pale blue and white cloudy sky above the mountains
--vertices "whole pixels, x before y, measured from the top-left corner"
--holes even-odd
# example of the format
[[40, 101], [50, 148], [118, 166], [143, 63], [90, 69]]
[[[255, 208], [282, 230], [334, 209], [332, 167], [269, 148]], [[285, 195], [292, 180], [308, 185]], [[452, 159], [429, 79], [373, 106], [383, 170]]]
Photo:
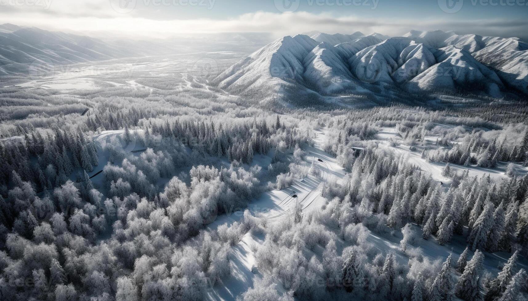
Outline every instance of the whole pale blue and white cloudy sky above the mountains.
[[0, 0], [0, 23], [140, 37], [454, 30], [528, 37], [528, 0]]

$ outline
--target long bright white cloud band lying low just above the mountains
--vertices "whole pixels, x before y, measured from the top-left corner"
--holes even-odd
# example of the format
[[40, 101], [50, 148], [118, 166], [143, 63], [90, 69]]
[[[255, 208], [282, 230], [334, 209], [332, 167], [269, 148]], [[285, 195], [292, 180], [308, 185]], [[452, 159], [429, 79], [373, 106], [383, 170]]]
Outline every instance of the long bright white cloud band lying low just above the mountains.
[[[120, 14], [108, 9], [109, 2], [88, 0], [76, 7], [78, 1], [54, 0], [53, 11], [24, 9], [21, 12], [0, 12], [0, 20], [50, 30], [103, 33], [122, 36], [169, 37], [184, 33], [218, 32], [270, 32], [275, 37], [294, 35], [301, 32], [320, 31], [326, 33], [379, 32], [386, 35], [402, 35], [410, 30], [453, 30], [460, 34], [519, 36], [527, 38], [525, 28], [528, 20], [399, 20], [361, 18], [357, 16], [336, 17], [329, 13], [307, 12], [270, 13], [254, 12], [237, 17], [213, 19], [195, 18], [190, 20], [153, 20], [140, 12]], [[106, 6], [105, 6], [106, 5]], [[53, 13], [53, 17], [50, 17]]]

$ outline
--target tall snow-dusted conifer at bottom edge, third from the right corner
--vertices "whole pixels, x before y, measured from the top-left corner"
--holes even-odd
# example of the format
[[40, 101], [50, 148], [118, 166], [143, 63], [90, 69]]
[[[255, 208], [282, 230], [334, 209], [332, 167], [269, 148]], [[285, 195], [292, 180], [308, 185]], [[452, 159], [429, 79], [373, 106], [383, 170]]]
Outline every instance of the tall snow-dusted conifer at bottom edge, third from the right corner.
[[464, 273], [458, 278], [455, 286], [455, 294], [466, 301], [478, 301], [480, 297], [480, 274], [482, 273], [482, 263], [484, 254], [479, 250], [475, 251], [473, 258], [467, 263]]

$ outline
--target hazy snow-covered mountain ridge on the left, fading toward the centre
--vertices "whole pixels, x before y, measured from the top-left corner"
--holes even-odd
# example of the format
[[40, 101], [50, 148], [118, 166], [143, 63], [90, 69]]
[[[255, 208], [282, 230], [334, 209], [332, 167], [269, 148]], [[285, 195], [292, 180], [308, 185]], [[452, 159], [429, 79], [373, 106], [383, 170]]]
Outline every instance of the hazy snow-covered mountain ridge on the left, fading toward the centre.
[[269, 43], [267, 34], [219, 33], [167, 40], [99, 39], [36, 27], [0, 25], [0, 75], [37, 74], [55, 65], [98, 62], [124, 57], [206, 51], [251, 52]]

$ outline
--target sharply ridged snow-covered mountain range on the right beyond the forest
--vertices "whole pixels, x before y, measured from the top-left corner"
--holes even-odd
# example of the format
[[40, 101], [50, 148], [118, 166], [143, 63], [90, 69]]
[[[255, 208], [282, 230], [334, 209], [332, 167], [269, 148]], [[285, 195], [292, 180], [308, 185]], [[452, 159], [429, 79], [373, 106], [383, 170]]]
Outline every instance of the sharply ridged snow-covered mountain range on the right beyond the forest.
[[353, 95], [376, 102], [439, 91], [502, 98], [528, 94], [527, 59], [528, 44], [515, 37], [317, 33], [279, 38], [213, 83], [262, 99], [335, 101]]

